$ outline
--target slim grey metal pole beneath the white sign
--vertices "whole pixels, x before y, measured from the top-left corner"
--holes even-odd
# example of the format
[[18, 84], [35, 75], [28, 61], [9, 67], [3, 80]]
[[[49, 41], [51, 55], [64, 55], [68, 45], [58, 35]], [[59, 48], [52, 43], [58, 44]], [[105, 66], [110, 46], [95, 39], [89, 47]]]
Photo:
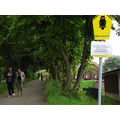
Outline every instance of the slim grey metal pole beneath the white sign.
[[98, 89], [98, 105], [101, 105], [102, 95], [102, 57], [99, 58], [99, 89]]

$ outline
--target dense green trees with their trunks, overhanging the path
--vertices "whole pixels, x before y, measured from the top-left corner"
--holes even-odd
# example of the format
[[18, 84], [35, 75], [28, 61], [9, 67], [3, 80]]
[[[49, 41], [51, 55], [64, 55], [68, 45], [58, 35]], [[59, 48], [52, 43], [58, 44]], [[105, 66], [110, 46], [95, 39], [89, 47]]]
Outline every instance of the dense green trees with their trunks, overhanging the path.
[[0, 73], [8, 66], [14, 70], [21, 67], [27, 75], [46, 69], [54, 80], [61, 80], [64, 91], [69, 91], [72, 74], [81, 63], [73, 87], [79, 88], [91, 59], [93, 17], [0, 16]]

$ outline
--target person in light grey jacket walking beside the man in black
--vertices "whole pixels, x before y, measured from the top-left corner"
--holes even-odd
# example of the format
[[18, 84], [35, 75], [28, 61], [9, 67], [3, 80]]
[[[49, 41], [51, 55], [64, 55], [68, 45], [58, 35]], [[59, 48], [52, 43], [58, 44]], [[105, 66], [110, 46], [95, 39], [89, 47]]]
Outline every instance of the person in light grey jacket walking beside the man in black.
[[23, 95], [23, 81], [25, 79], [25, 74], [23, 71], [21, 71], [20, 68], [17, 69], [16, 72], [16, 83], [17, 83], [17, 90], [18, 90], [18, 95]]

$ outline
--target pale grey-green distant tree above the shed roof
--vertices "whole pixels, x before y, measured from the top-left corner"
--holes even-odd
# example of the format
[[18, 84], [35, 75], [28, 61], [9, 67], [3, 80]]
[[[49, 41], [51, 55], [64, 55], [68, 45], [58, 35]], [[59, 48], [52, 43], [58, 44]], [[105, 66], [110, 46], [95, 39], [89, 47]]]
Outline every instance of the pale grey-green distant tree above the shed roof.
[[120, 56], [112, 56], [105, 60], [103, 72], [108, 72], [120, 68]]

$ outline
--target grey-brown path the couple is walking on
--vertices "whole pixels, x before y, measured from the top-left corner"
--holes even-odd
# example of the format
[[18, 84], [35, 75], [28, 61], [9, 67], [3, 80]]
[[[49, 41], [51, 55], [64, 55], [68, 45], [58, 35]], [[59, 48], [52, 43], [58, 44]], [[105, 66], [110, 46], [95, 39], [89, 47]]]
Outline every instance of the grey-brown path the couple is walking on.
[[47, 105], [44, 99], [44, 81], [33, 80], [23, 87], [23, 96], [8, 98], [8, 93], [0, 95], [0, 105]]

